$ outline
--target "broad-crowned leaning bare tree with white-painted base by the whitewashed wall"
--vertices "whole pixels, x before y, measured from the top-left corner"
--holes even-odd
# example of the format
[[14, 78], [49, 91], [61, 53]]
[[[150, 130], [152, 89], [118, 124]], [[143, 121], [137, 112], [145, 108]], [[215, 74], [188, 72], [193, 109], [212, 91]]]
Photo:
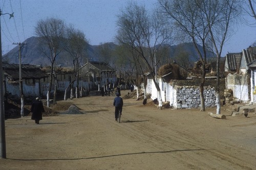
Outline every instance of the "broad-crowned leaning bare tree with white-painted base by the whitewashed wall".
[[143, 61], [140, 64], [145, 65], [147, 71], [152, 74], [161, 109], [161, 91], [156, 75], [160, 57], [156, 60], [155, 53], [162, 44], [168, 43], [170, 34], [166, 33], [169, 33], [170, 28], [162, 25], [163, 20], [160, 13], [154, 11], [152, 15], [149, 15], [144, 6], [139, 6], [136, 3], [130, 3], [120, 13], [117, 20], [117, 40], [120, 44], [130, 46], [134, 54]]

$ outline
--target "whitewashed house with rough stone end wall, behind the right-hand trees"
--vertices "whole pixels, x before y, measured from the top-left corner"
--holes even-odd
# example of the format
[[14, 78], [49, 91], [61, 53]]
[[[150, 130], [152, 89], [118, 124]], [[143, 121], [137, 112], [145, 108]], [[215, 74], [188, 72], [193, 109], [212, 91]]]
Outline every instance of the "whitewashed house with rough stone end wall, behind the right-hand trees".
[[[221, 60], [220, 66], [221, 70], [224, 70], [224, 61]], [[176, 64], [176, 63], [174, 63]], [[211, 64], [216, 64], [216, 62], [211, 59]], [[211, 71], [215, 70], [216, 67], [211, 67]], [[183, 67], [179, 67], [179, 71], [188, 71]], [[210, 70], [209, 70], [210, 71]], [[161, 77], [158, 76], [157, 82], [159, 83], [162, 101], [169, 102], [170, 107], [173, 108], [198, 108], [201, 107], [200, 101], [200, 91], [199, 84], [201, 82], [200, 78], [197, 77], [187, 77], [186, 80], [175, 80], [174, 73], [169, 72]], [[147, 93], [151, 94], [152, 100], [158, 99], [157, 89], [152, 79], [151, 74], [146, 74], [147, 76]], [[205, 77], [205, 106], [212, 107], [216, 106], [216, 76]], [[220, 79], [220, 96], [221, 100], [224, 100], [224, 89], [225, 89], [225, 79]]]

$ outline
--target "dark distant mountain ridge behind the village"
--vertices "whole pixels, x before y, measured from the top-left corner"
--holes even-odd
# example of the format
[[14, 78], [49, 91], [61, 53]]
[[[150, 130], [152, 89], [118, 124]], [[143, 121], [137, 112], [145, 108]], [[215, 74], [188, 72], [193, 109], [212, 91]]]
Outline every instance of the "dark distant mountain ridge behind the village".
[[[42, 44], [39, 41], [38, 37], [30, 37], [24, 43], [27, 43], [22, 46], [21, 55], [22, 55], [22, 64], [31, 64], [31, 65], [42, 65], [48, 66], [51, 65], [50, 60], [42, 52]], [[113, 42], [107, 43], [111, 49], [117, 47]], [[86, 47], [86, 58], [90, 58], [90, 61], [98, 61], [99, 51], [101, 45], [90, 45]], [[46, 48], [47, 49], [47, 48]], [[197, 61], [195, 58], [197, 52], [193, 43], [182, 43], [179, 45], [169, 45], [170, 56], [175, 55], [175, 51], [182, 49], [189, 54], [190, 61]], [[201, 49], [202, 50], [202, 49]], [[213, 54], [208, 53], [208, 57], [212, 57]], [[10, 52], [3, 56], [3, 61], [7, 61], [10, 64], [18, 64], [18, 46], [15, 46]], [[86, 61], [84, 61], [86, 62]], [[67, 52], [61, 52], [56, 58], [56, 64], [62, 66], [72, 66], [72, 60], [69, 57]]]

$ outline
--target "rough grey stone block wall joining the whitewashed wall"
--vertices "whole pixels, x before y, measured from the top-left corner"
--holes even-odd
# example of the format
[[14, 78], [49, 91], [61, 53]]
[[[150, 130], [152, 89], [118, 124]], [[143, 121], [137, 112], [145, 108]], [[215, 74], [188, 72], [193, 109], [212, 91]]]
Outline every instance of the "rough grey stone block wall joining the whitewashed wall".
[[[200, 90], [198, 86], [175, 86], [177, 108], [201, 107]], [[204, 87], [205, 107], [216, 106], [214, 87]]]

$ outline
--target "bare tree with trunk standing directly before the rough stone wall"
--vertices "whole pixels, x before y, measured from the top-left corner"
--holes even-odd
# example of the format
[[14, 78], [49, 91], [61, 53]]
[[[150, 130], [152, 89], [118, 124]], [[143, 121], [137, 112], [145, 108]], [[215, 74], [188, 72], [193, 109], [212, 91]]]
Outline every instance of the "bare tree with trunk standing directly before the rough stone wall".
[[[185, 33], [193, 41], [196, 51], [199, 55], [199, 59], [202, 63], [200, 99], [201, 99], [201, 111], [205, 111], [204, 104], [204, 83], [205, 83], [205, 64], [206, 64], [206, 39], [208, 36], [208, 28], [204, 22], [205, 18], [202, 12], [197, 9], [197, 3], [195, 1], [181, 0], [181, 1], [168, 1], [159, 0], [161, 10], [165, 17], [169, 19], [170, 23], [176, 26], [176, 29], [181, 33]], [[203, 47], [203, 52], [199, 50], [199, 44]]]

